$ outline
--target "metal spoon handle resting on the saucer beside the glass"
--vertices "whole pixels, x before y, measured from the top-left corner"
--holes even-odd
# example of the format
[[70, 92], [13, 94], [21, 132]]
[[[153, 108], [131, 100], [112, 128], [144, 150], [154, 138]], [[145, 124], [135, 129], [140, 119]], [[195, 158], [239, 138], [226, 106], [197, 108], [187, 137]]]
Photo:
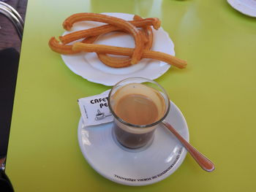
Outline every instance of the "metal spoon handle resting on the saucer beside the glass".
[[173, 128], [173, 126], [171, 126], [165, 120], [162, 121], [162, 123], [177, 137], [177, 139], [182, 143], [182, 145], [184, 145], [184, 147], [187, 149], [190, 155], [192, 155], [195, 161], [197, 161], [197, 164], [199, 164], [206, 172], [214, 171], [214, 164], [208, 158], [206, 158], [203, 154], [196, 150], [195, 147], [190, 145], [189, 142], [187, 142], [183, 137], [181, 137], [181, 135], [178, 134], [178, 132]]

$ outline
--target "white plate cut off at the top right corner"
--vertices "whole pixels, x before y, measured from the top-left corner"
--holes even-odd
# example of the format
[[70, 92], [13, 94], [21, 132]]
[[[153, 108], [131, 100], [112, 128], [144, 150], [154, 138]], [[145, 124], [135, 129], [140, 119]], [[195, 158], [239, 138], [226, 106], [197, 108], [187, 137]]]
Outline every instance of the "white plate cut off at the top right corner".
[[251, 17], [256, 17], [256, 0], [227, 0], [238, 12]]

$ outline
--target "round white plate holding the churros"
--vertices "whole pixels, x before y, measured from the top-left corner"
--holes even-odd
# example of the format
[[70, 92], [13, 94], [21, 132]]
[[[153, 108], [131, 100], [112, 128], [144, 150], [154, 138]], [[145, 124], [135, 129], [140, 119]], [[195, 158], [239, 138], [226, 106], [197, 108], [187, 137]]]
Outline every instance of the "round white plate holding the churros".
[[[133, 15], [124, 13], [104, 13], [105, 15], [123, 18], [124, 20], [132, 20]], [[81, 29], [101, 26], [102, 23], [87, 21], [75, 23], [72, 31], [65, 31], [64, 34], [69, 34], [73, 31]], [[175, 55], [174, 45], [169, 35], [162, 29], [154, 30], [154, 41], [151, 50], [157, 50], [170, 55]], [[63, 35], [64, 35], [63, 34]], [[112, 32], [97, 40], [96, 44], [114, 45], [120, 47], [134, 47], [134, 39], [128, 34]], [[170, 64], [154, 59], [143, 58], [139, 64], [121, 69], [115, 69], [105, 66], [97, 58], [96, 53], [79, 53], [76, 55], [61, 55], [64, 63], [72, 72], [91, 82], [97, 82], [103, 85], [115, 85], [116, 82], [128, 77], [145, 77], [155, 80], [162, 74], [167, 72]]]

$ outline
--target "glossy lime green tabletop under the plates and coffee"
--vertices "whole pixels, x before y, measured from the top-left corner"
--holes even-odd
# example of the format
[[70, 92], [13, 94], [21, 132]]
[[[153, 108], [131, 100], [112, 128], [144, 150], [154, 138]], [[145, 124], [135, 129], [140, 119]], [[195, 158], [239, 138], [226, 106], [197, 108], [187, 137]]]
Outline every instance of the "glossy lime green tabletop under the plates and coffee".
[[[48, 47], [76, 12], [157, 17], [187, 69], [156, 81], [183, 112], [190, 142], [216, 165], [204, 172], [188, 154], [154, 185], [105, 179], [78, 145], [77, 99], [110, 87], [71, 72]], [[225, 0], [29, 1], [12, 114], [7, 174], [16, 191], [255, 191], [256, 18]]]

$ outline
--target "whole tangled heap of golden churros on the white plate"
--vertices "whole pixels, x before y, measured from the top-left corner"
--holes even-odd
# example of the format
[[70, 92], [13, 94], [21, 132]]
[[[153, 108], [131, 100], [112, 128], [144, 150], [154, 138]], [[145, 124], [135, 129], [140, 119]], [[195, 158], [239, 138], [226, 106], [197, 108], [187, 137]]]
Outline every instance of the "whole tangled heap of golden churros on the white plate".
[[[51, 50], [61, 54], [75, 54], [82, 51], [89, 53], [94, 52], [97, 53], [99, 60], [102, 61], [103, 64], [116, 68], [137, 64], [141, 58], [153, 58], [164, 61], [179, 69], [184, 69], [187, 66], [187, 61], [183, 61], [173, 55], [150, 50], [153, 43], [153, 31], [151, 26], [155, 29], [160, 27], [161, 21], [158, 18], [143, 19], [140, 18], [140, 16], [135, 15], [133, 20], [126, 21], [97, 13], [78, 13], [71, 15], [64, 20], [63, 27], [69, 31], [74, 23], [83, 20], [108, 24], [66, 34], [59, 37], [61, 42], [55, 37], [52, 37], [48, 43]], [[111, 31], [122, 31], [132, 34], [135, 39], [135, 48], [93, 44], [100, 35], [107, 34]], [[69, 42], [74, 41], [80, 42], [75, 42], [73, 45], [67, 45]], [[108, 54], [122, 55], [124, 57], [120, 58]]]

